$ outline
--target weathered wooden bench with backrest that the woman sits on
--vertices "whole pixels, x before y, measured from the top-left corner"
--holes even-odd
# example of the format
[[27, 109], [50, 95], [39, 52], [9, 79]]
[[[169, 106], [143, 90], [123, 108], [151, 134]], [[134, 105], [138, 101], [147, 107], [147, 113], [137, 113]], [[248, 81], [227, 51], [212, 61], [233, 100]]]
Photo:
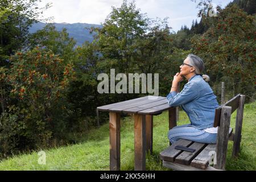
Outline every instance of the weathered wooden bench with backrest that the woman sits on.
[[[225, 170], [228, 140], [234, 142], [232, 156], [237, 157], [240, 152], [244, 102], [245, 96], [238, 94], [216, 109], [213, 125], [214, 127], [218, 126], [216, 144], [197, 143], [180, 139], [160, 152], [163, 166], [174, 170]], [[230, 116], [235, 110], [237, 110], [236, 130], [233, 133], [233, 129], [230, 127]], [[170, 113], [175, 114], [175, 111]], [[170, 129], [174, 126], [176, 126], [175, 115], [170, 117], [169, 120]], [[175, 149], [177, 145], [193, 148], [195, 151], [177, 150]], [[214, 166], [209, 165], [212, 163], [212, 158], [215, 158]]]

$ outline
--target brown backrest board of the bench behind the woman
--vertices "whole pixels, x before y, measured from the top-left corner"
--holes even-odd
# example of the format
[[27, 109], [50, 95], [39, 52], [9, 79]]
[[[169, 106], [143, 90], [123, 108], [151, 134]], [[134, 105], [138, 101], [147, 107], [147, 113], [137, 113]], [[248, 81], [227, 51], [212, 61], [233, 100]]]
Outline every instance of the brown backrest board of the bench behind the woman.
[[220, 126], [220, 118], [221, 118], [221, 109], [222, 109], [222, 107], [223, 106], [232, 107], [232, 110], [231, 110], [231, 114], [232, 114], [235, 110], [237, 110], [237, 108], [239, 106], [240, 97], [241, 97], [241, 94], [237, 94], [237, 96], [233, 97], [228, 102], [226, 102], [225, 104], [222, 104], [220, 107], [215, 109], [215, 117], [214, 117], [213, 127]]

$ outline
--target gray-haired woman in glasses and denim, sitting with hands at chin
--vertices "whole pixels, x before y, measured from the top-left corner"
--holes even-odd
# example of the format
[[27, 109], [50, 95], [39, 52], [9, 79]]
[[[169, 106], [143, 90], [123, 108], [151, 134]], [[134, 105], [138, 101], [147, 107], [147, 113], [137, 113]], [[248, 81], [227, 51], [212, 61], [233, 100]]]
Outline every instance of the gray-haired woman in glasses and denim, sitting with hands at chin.
[[[202, 75], [204, 62], [200, 57], [189, 54], [180, 65], [180, 73], [176, 73], [172, 81], [171, 91], [167, 95], [170, 106], [181, 106], [187, 113], [191, 123], [176, 126], [168, 132], [171, 143], [179, 139], [201, 143], [216, 143], [217, 127], [213, 127], [215, 109], [219, 106], [213, 90], [210, 88], [209, 76]], [[177, 85], [188, 80], [183, 90], [177, 93]]]

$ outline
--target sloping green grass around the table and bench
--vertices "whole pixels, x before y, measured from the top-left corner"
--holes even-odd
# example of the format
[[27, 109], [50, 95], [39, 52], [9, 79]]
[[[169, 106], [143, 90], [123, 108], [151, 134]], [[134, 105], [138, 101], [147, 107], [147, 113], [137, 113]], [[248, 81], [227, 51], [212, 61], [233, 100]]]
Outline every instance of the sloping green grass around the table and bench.
[[[232, 158], [233, 142], [229, 142], [226, 170], [256, 170], [256, 102], [245, 105], [243, 114], [241, 153]], [[234, 127], [236, 112], [232, 114]], [[178, 125], [189, 123], [180, 111]], [[170, 170], [162, 167], [159, 152], [168, 146], [168, 113], [154, 117], [153, 154], [146, 156], [147, 170]], [[109, 125], [90, 130], [83, 142], [51, 148], [46, 152], [46, 164], [38, 164], [38, 152], [13, 156], [0, 162], [0, 170], [109, 170]], [[121, 170], [134, 169], [133, 118], [121, 120]]]

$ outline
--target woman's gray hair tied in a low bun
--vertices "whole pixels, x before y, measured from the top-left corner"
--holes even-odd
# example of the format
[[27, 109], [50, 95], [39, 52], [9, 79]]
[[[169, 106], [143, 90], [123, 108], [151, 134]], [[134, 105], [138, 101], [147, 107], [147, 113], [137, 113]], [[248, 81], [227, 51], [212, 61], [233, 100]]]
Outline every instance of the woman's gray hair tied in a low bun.
[[204, 61], [199, 56], [193, 55], [192, 53], [189, 53], [187, 57], [189, 58], [189, 64], [195, 68], [196, 75], [201, 75], [206, 82], [210, 81], [208, 75], [202, 75], [205, 68]]

